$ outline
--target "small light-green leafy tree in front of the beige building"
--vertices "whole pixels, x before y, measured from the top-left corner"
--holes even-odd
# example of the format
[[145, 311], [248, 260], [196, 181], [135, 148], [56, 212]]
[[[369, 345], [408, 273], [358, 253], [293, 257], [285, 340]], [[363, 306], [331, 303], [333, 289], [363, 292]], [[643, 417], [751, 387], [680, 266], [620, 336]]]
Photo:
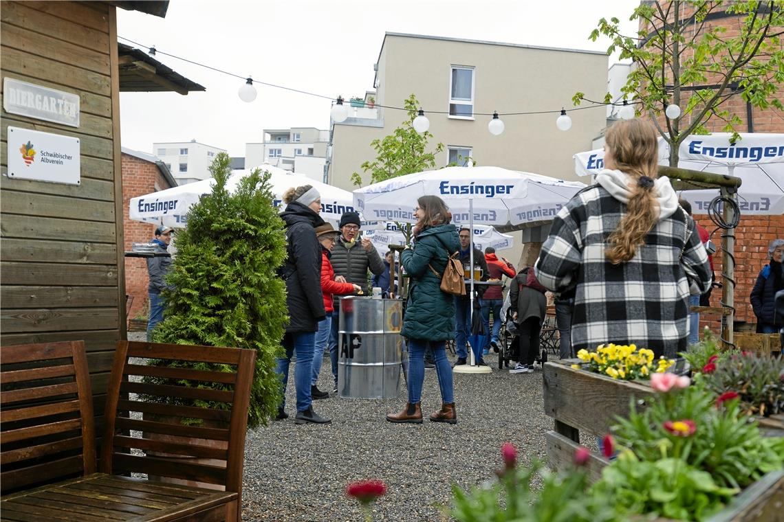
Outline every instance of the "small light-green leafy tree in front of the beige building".
[[[444, 150], [444, 144], [438, 143], [433, 152], [426, 152], [427, 142], [433, 135], [427, 131], [419, 134], [414, 129], [413, 121], [419, 107], [416, 95], [408, 96], [403, 106], [408, 112], [408, 119], [392, 131], [392, 134], [370, 142], [370, 146], [376, 151], [376, 159], [365, 161], [361, 167], [365, 174], [370, 174], [371, 183], [435, 168], [436, 154]], [[354, 172], [351, 182], [361, 186], [361, 175]]]

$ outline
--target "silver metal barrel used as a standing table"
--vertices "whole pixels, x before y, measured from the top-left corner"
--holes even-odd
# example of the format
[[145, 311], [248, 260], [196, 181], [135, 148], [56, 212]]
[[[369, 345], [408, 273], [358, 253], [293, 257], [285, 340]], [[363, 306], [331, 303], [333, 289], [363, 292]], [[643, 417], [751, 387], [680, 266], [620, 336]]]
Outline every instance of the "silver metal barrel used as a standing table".
[[404, 351], [402, 301], [342, 297], [339, 307], [338, 395], [396, 398]]

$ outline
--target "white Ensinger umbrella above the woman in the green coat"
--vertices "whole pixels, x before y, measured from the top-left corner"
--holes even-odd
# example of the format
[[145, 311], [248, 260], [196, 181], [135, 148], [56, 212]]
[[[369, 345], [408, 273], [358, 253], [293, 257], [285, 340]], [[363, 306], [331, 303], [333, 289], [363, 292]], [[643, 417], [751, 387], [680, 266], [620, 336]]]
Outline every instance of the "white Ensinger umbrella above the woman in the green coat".
[[[456, 225], [513, 226], [548, 221], [586, 185], [501, 167], [446, 167], [387, 179], [354, 190], [354, 207], [368, 220], [416, 222], [419, 196], [439, 196]], [[473, 236], [473, 235], [472, 235]], [[470, 248], [474, 266], [474, 249]], [[470, 278], [474, 313], [474, 278]], [[473, 351], [472, 351], [472, 366]], [[458, 367], [460, 368], [460, 367]]]

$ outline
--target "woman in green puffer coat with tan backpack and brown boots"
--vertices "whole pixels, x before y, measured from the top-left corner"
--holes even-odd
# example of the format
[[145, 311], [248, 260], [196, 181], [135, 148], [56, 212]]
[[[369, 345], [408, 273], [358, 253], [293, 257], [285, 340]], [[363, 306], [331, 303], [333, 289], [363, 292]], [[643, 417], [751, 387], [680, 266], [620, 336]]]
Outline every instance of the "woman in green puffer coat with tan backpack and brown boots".
[[[419, 401], [425, 380], [425, 348], [430, 343], [435, 356], [441, 410], [430, 416], [435, 423], [457, 423], [452, 366], [446, 358], [446, 340], [455, 329], [455, 301], [441, 291], [441, 275], [450, 254], [459, 250], [460, 239], [452, 214], [437, 196], [422, 196], [414, 211], [417, 223], [414, 247], [406, 247], [401, 263], [408, 274], [408, 305], [401, 335], [408, 337], [408, 404], [401, 412], [387, 415], [390, 423], [422, 423]], [[436, 275], [437, 272], [438, 275]]]

